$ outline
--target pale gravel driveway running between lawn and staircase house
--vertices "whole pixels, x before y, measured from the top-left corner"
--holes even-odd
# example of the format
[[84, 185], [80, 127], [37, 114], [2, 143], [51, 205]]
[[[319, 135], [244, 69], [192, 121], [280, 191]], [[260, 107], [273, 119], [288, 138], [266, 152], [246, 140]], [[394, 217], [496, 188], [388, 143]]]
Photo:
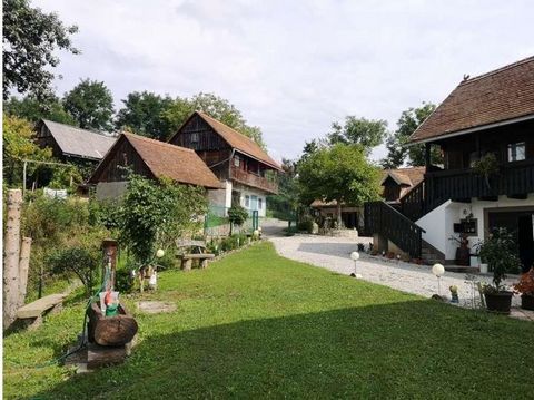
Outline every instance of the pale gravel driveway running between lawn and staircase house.
[[[306, 262], [316, 266], [325, 267], [340, 274], [349, 275], [354, 272], [354, 262], [350, 252], [357, 250], [357, 243], [368, 243], [368, 237], [357, 241], [342, 237], [295, 235], [290, 237], [270, 236], [278, 254]], [[357, 263], [357, 272], [365, 281], [383, 284], [403, 292], [419, 294], [431, 297], [437, 293], [437, 279], [432, 274], [431, 266], [416, 265], [405, 262], [372, 257], [360, 253]], [[476, 276], [477, 281], [491, 282], [491, 276]], [[514, 281], [508, 281], [511, 284]], [[473, 306], [473, 295], [478, 301], [478, 292], [473, 291], [473, 285], [466, 282], [465, 273], [445, 272], [441, 279], [441, 294], [451, 297], [448, 287], [458, 286], [461, 305]], [[514, 296], [514, 304], [518, 304], [518, 296]]]

